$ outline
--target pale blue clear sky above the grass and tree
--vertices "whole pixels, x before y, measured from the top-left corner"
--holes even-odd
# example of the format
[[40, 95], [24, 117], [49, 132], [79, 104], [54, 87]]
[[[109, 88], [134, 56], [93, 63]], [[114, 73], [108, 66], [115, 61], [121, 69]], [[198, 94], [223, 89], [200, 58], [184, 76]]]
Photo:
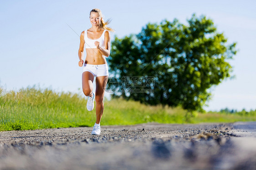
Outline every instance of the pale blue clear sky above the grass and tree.
[[254, 0], [0, 1], [0, 86], [19, 90], [40, 85], [82, 94], [78, 35], [91, 27], [93, 8], [101, 9], [105, 20], [112, 18], [110, 26], [116, 30], [112, 40], [114, 35], [137, 34], [148, 22], [177, 18], [187, 24], [186, 19], [196, 13], [212, 19], [218, 32], [224, 32], [229, 44], [237, 42], [238, 49], [230, 61], [236, 78], [211, 89], [205, 110], [255, 110], [255, 6]]

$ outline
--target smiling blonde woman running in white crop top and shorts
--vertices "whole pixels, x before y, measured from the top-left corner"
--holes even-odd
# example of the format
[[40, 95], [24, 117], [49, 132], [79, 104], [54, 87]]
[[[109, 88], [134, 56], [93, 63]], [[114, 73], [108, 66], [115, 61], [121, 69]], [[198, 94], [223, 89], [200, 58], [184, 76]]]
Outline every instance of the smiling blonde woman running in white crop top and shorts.
[[[108, 65], [105, 57], [110, 55], [110, 34], [113, 29], [107, 27], [109, 20], [104, 22], [101, 10], [93, 9], [90, 12], [92, 27], [82, 31], [80, 35], [80, 46], [78, 50], [80, 67], [83, 66], [82, 90], [87, 99], [87, 110], [94, 108], [96, 101], [96, 122], [93, 126], [92, 135], [100, 135], [100, 121], [102, 118], [104, 103], [103, 97], [108, 82]], [[84, 45], [86, 58], [83, 61]], [[93, 79], [96, 76], [96, 90], [93, 93]]]

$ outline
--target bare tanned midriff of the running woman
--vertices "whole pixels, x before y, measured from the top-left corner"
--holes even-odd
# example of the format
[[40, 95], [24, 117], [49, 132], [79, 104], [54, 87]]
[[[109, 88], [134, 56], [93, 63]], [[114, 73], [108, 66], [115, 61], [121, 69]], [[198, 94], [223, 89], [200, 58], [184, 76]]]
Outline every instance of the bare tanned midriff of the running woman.
[[101, 54], [97, 48], [86, 49], [86, 60], [85, 64], [89, 65], [103, 65], [107, 64], [107, 60], [104, 55]]

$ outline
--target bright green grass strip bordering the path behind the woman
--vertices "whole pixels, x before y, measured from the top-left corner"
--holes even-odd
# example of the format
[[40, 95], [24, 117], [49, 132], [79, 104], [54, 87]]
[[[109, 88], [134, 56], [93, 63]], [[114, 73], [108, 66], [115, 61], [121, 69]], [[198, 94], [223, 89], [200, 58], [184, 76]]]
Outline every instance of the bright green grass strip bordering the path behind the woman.
[[[86, 102], [81, 95], [57, 93], [51, 89], [28, 87], [15, 92], [0, 88], [0, 131], [93, 126], [95, 109], [87, 111]], [[197, 113], [197, 116], [188, 118], [186, 113], [180, 107], [104, 99], [101, 125], [256, 121], [255, 115]]]

